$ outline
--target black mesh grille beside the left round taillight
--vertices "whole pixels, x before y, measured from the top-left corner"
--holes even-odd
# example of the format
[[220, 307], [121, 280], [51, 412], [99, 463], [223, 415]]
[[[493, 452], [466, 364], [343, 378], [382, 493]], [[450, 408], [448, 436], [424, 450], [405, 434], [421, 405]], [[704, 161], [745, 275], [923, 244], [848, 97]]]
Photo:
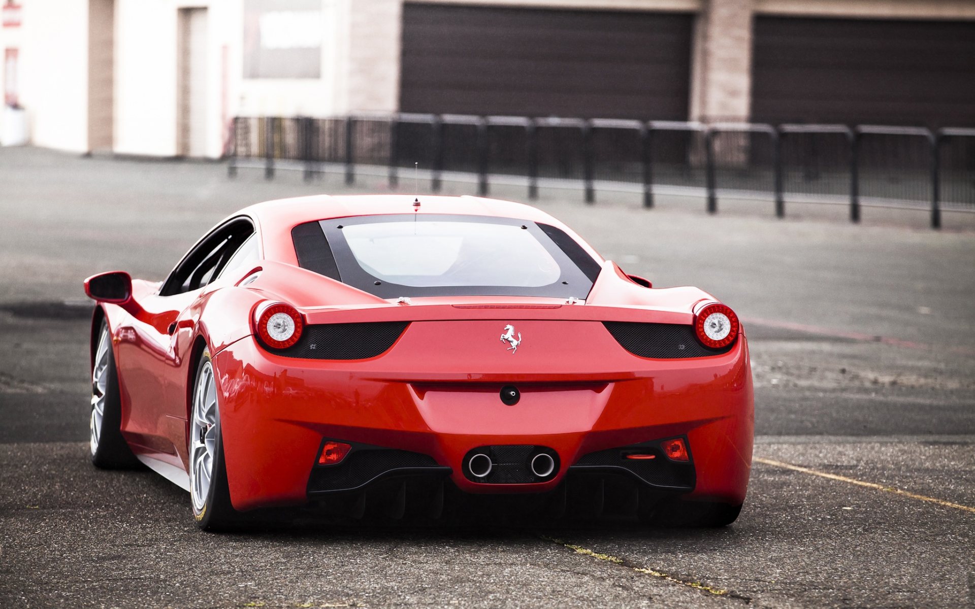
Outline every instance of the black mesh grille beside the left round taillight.
[[268, 351], [304, 360], [367, 360], [392, 347], [407, 325], [409, 322], [306, 325], [291, 347]]

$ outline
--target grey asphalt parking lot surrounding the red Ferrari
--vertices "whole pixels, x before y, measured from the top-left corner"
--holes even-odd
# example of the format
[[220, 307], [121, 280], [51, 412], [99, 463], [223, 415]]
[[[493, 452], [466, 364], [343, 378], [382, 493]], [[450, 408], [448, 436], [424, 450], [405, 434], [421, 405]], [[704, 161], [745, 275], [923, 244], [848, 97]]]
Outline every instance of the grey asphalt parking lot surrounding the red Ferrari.
[[161, 280], [227, 213], [322, 192], [388, 188], [0, 150], [0, 606], [975, 607], [975, 233], [916, 228], [923, 212], [850, 225], [543, 190], [539, 207], [627, 271], [698, 285], [742, 318], [755, 462], [724, 529], [212, 535], [162, 477], [91, 466], [82, 280]]

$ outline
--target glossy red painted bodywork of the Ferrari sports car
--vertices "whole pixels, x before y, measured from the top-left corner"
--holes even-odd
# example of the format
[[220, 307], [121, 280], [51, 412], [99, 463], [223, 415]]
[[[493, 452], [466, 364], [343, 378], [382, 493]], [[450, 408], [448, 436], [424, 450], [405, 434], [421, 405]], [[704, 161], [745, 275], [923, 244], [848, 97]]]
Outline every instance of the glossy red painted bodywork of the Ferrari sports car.
[[[557, 226], [603, 271], [583, 303], [523, 296], [379, 298], [297, 265], [292, 228], [310, 220], [410, 211], [411, 197], [309, 197], [244, 209], [261, 260], [199, 290], [160, 296], [136, 281], [127, 311], [101, 303], [112, 336], [122, 432], [133, 450], [185, 486], [188, 404], [198, 347], [216, 374], [233, 506], [299, 505], [323, 438], [423, 453], [452, 469], [469, 493], [543, 492], [586, 453], [685, 436], [696, 484], [686, 497], [740, 504], [752, 460], [754, 398], [748, 343], [712, 357], [632, 355], [603, 322], [692, 324], [714, 297], [694, 287], [646, 288], [565, 225], [519, 204], [423, 197], [418, 213], [501, 215]], [[240, 282], [260, 270], [253, 283]], [[296, 307], [306, 324], [409, 322], [385, 353], [367, 360], [298, 360], [254, 338], [262, 302]], [[133, 314], [135, 313], [135, 314]], [[525, 336], [517, 354], [498, 343], [505, 324]], [[94, 332], [95, 330], [93, 330]], [[516, 384], [516, 405], [498, 387]], [[557, 476], [531, 484], [485, 484], [461, 474], [462, 459], [488, 444], [554, 449]], [[163, 464], [163, 465], [160, 465]]]

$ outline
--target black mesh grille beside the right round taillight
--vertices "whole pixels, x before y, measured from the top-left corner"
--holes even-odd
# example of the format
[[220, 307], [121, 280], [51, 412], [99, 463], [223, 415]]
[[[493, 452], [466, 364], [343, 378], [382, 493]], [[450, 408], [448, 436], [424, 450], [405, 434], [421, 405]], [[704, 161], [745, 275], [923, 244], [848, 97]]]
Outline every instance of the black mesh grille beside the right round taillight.
[[721, 349], [705, 347], [687, 324], [603, 323], [616, 342], [635, 356], [657, 360], [706, 358], [731, 351], [734, 342]]

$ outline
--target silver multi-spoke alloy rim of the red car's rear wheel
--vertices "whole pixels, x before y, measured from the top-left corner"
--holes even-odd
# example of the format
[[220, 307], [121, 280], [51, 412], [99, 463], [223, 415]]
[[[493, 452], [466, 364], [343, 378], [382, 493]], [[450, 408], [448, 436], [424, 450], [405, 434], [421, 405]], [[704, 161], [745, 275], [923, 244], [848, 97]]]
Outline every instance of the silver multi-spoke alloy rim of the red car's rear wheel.
[[193, 508], [197, 512], [207, 504], [210, 479], [214, 476], [216, 416], [214, 364], [206, 362], [200, 369], [193, 392], [193, 418], [189, 425], [189, 486]]

